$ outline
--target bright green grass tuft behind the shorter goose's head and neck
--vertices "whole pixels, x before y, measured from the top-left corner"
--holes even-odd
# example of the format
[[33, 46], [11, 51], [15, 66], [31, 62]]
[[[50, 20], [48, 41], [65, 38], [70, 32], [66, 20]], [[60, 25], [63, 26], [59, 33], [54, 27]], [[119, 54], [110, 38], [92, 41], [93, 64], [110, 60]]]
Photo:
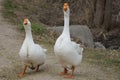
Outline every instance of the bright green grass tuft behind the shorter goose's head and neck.
[[[32, 32], [35, 34], [42, 34], [45, 32], [46, 27], [42, 23], [31, 23]], [[20, 24], [20, 29], [24, 30], [23, 23]]]

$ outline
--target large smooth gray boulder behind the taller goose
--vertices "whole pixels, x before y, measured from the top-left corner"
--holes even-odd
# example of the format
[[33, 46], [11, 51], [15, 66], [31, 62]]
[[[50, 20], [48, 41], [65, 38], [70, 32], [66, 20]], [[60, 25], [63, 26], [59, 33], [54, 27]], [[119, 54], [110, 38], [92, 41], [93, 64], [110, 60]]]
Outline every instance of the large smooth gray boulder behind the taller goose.
[[[63, 26], [51, 27], [53, 30], [59, 32], [63, 31]], [[86, 46], [93, 48], [93, 36], [87, 25], [70, 25], [70, 34], [72, 37], [80, 39], [80, 41]]]

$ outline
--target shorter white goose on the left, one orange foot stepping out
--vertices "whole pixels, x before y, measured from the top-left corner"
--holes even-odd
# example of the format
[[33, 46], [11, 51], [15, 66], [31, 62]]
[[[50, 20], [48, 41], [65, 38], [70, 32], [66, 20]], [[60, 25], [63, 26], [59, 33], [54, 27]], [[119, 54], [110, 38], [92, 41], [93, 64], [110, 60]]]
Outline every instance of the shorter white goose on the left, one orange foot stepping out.
[[24, 19], [23, 25], [26, 35], [19, 55], [24, 61], [25, 65], [24, 70], [18, 74], [18, 76], [20, 77], [25, 74], [27, 67], [31, 69], [36, 68], [36, 71], [38, 71], [39, 66], [44, 64], [46, 59], [45, 49], [43, 49], [40, 45], [35, 44], [33, 41], [30, 21], [28, 19]]

